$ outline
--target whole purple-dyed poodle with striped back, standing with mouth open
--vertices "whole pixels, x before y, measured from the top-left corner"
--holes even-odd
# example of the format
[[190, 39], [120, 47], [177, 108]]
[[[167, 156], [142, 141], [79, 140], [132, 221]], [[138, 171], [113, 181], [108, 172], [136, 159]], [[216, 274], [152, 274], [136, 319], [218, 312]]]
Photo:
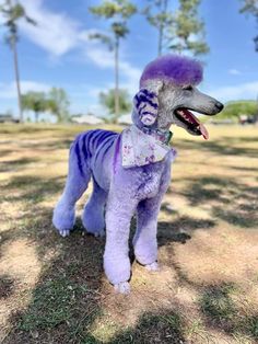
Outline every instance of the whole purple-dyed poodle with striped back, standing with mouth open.
[[62, 237], [75, 220], [75, 203], [92, 177], [93, 193], [82, 222], [87, 232], [106, 229], [104, 268], [119, 293], [130, 291], [128, 256], [130, 221], [137, 215], [133, 238], [136, 260], [150, 271], [157, 265], [157, 215], [171, 182], [175, 150], [169, 127], [176, 124], [191, 135], [208, 138], [208, 130], [189, 111], [215, 115], [223, 105], [198, 91], [200, 62], [166, 55], [150, 62], [133, 99], [132, 122], [121, 134], [96, 129], [80, 134], [70, 149], [69, 173], [52, 222]]

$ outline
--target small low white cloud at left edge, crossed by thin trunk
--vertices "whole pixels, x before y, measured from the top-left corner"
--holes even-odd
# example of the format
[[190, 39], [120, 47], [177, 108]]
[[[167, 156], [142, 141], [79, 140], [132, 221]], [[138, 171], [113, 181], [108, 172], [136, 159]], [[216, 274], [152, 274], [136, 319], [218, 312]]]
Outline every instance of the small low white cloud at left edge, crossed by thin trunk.
[[[21, 81], [21, 91], [22, 93], [26, 93], [28, 91], [34, 92], [47, 92], [50, 90], [50, 85], [46, 83], [35, 82], [24, 80]], [[10, 83], [0, 83], [0, 99], [15, 99], [16, 95], [16, 84], [15, 82]]]

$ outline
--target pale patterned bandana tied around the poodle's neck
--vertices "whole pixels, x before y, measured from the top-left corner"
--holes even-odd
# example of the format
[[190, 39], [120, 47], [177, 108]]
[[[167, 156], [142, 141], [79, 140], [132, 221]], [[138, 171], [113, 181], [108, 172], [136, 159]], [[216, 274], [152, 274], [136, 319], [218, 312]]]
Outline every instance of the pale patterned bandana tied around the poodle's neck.
[[[171, 135], [169, 135], [171, 136]], [[140, 130], [136, 125], [126, 128], [122, 134], [122, 167], [143, 167], [164, 160], [165, 156], [173, 150], [159, 134], [148, 134]], [[167, 139], [166, 139], [167, 141]], [[175, 151], [173, 150], [175, 156]]]

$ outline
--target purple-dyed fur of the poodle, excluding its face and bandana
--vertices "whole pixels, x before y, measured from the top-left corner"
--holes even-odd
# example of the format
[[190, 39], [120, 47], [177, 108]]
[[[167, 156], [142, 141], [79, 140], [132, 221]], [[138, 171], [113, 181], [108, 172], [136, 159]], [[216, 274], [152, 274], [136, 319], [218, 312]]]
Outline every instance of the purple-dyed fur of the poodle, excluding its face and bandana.
[[[175, 84], [196, 84], [202, 79], [201, 65], [181, 56], [164, 56], [146, 66], [140, 85], [149, 79], [168, 80]], [[140, 90], [134, 98], [132, 121], [142, 129], [144, 112], [157, 116], [157, 94]], [[150, 129], [157, 128], [157, 121]], [[159, 128], [157, 128], [159, 129]], [[125, 169], [121, 165], [121, 135], [107, 130], [90, 130], [79, 135], [71, 146], [66, 187], [55, 210], [52, 222], [66, 237], [75, 220], [75, 203], [92, 177], [93, 193], [87, 200], [82, 222], [87, 232], [103, 236], [106, 228], [104, 268], [109, 282], [127, 290], [131, 266], [128, 256], [130, 221], [137, 215], [133, 238], [138, 262], [154, 266], [157, 260], [157, 215], [169, 181], [171, 150], [161, 162]], [[154, 265], [153, 265], [154, 264]]]

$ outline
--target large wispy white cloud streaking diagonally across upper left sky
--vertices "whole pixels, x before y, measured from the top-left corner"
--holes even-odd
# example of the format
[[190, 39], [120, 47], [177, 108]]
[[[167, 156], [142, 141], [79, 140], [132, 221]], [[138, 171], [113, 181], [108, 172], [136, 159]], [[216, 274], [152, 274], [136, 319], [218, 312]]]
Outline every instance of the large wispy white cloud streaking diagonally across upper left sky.
[[[34, 44], [40, 46], [51, 56], [60, 57], [75, 49], [86, 60], [103, 69], [114, 69], [114, 51], [89, 38], [99, 30], [83, 30], [80, 23], [66, 13], [55, 13], [47, 9], [43, 0], [21, 0], [37, 25], [21, 21], [20, 28]], [[105, 32], [102, 32], [105, 33]], [[78, 53], [79, 54], [79, 53]], [[120, 74], [127, 79], [124, 85], [138, 85], [141, 70], [131, 66], [124, 58], [119, 62]]]

